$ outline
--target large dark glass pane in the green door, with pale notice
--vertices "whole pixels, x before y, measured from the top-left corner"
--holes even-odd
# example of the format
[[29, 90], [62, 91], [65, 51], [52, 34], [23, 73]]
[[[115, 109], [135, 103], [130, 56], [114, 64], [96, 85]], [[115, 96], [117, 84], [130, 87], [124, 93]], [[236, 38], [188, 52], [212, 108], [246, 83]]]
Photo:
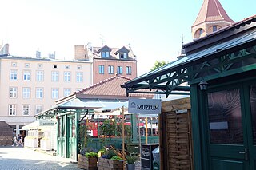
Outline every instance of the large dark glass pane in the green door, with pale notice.
[[239, 89], [208, 93], [210, 143], [243, 144]]

